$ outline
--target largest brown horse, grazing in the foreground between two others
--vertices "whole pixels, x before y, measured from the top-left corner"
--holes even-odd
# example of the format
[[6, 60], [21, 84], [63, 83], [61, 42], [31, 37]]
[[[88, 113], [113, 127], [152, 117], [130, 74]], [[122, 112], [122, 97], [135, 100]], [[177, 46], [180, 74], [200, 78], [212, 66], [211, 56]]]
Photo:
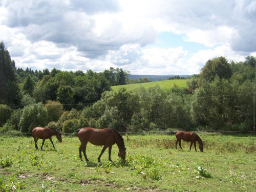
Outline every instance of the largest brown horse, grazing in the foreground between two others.
[[100, 157], [108, 147], [109, 147], [109, 160], [112, 161], [111, 150], [112, 150], [112, 145], [114, 144], [117, 144], [118, 146], [118, 149], [119, 149], [118, 156], [125, 161], [126, 148], [124, 147], [123, 138], [114, 129], [106, 128], [106, 129], [99, 130], [91, 127], [85, 127], [82, 129], [78, 129], [77, 133], [78, 133], [78, 138], [81, 142], [81, 145], [79, 147], [79, 157], [81, 161], [82, 161], [82, 152], [84, 157], [86, 158], [86, 161], [89, 161], [89, 159], [86, 156], [86, 146], [88, 142], [94, 145], [100, 145], [100, 146], [103, 145], [102, 151], [98, 157], [98, 162], [100, 162]]

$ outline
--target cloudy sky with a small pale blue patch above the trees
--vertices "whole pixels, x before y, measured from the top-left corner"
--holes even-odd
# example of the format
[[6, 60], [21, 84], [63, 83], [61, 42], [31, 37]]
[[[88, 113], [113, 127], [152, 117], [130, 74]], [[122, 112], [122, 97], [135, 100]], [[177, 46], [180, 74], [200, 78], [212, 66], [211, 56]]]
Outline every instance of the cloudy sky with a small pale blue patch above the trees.
[[199, 74], [256, 56], [255, 24], [248, 0], [0, 0], [0, 41], [34, 71]]

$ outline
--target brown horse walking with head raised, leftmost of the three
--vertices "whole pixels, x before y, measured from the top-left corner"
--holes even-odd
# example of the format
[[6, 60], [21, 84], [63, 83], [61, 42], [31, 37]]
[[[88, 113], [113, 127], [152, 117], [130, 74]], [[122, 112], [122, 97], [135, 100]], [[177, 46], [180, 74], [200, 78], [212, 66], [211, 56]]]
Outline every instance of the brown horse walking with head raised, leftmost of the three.
[[[35, 141], [35, 148], [38, 150], [38, 146], [36, 144], [38, 139], [42, 139], [42, 145], [44, 145], [46, 139], [50, 139], [53, 148], [55, 148], [52, 142], [53, 135], [56, 135], [59, 142], [62, 142], [61, 134], [57, 130], [50, 127], [35, 127], [32, 130], [32, 136], [34, 137], [34, 141]], [[41, 150], [42, 150], [42, 146], [41, 146]]]

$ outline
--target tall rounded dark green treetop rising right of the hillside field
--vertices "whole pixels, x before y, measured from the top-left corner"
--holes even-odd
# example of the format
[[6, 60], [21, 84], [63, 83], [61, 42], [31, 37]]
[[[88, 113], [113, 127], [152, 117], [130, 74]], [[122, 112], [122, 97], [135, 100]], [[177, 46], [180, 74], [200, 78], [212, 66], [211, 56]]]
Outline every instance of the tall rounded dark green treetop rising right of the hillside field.
[[203, 80], [213, 81], [216, 76], [229, 79], [232, 75], [230, 63], [225, 57], [215, 57], [208, 60], [199, 75], [199, 83]]

